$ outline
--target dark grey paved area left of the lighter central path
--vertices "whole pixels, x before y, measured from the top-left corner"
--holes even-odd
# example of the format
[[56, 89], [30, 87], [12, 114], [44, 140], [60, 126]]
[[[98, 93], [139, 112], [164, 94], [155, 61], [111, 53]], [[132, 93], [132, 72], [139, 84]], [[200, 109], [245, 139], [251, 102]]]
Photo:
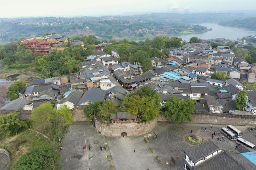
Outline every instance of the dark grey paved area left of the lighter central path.
[[[95, 141], [96, 142], [95, 144]], [[91, 124], [73, 124], [67, 129], [62, 143], [61, 164], [63, 170], [108, 170], [110, 162], [106, 158], [109, 151], [101, 151], [107, 141], [95, 132]], [[83, 145], [91, 145], [91, 150], [83, 150]]]

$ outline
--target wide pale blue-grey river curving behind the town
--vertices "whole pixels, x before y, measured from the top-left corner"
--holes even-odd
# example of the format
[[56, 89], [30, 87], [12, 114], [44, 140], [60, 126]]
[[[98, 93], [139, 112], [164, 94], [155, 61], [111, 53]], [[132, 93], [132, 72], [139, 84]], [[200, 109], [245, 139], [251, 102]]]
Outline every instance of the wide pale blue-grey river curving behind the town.
[[207, 31], [202, 34], [180, 35], [177, 37], [180, 37], [182, 38], [182, 40], [186, 40], [188, 42], [191, 37], [198, 37], [204, 40], [216, 39], [216, 38], [237, 40], [238, 38], [241, 39], [242, 37], [245, 37], [245, 36], [256, 35], [256, 31], [250, 31], [243, 28], [219, 26], [218, 23], [204, 23], [199, 25], [207, 26], [207, 28], [212, 28], [212, 31]]

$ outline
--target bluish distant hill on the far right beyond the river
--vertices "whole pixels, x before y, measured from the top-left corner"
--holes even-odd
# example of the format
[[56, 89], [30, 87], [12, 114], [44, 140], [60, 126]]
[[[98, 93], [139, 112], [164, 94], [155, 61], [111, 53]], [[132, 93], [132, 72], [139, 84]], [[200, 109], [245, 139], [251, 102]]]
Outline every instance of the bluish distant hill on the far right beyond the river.
[[237, 19], [237, 20], [231, 20], [231, 21], [223, 21], [223, 22], [220, 22], [219, 25], [256, 30], [256, 17]]

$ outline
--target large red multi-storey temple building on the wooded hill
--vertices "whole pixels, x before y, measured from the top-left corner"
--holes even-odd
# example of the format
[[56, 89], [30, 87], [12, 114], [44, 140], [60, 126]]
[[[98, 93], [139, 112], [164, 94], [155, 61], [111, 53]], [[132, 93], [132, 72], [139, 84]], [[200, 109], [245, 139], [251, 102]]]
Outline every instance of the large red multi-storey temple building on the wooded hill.
[[32, 40], [25, 40], [21, 42], [21, 44], [24, 44], [26, 49], [31, 50], [33, 53], [38, 54], [47, 54], [51, 50], [50, 43], [45, 40], [38, 40], [38, 39], [32, 39]]

